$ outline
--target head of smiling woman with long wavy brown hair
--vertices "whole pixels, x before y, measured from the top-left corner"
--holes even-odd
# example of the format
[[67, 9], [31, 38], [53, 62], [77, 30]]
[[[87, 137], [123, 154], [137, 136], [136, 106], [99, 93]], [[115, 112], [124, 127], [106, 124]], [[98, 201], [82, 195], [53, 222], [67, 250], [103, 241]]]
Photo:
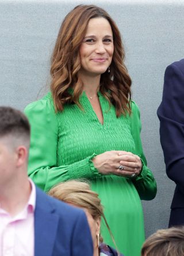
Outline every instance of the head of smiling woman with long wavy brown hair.
[[109, 14], [95, 5], [76, 6], [62, 22], [51, 59], [56, 111], [65, 103], [80, 105], [81, 73], [101, 77], [99, 91], [114, 104], [117, 116], [129, 111], [131, 78], [124, 57], [120, 31]]

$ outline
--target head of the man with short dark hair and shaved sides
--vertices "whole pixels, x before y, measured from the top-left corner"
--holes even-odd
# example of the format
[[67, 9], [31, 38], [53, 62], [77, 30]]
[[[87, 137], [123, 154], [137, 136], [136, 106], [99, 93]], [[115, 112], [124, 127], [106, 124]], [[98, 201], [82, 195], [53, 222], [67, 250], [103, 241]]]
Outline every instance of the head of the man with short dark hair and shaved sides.
[[28, 161], [30, 126], [26, 116], [11, 107], [0, 107], [0, 182], [18, 175]]

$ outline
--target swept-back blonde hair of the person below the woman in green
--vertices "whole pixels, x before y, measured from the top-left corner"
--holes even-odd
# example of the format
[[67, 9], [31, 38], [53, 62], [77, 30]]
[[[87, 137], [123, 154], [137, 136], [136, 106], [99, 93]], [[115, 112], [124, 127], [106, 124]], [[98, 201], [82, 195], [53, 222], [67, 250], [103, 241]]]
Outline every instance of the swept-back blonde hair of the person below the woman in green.
[[[94, 220], [103, 217], [105, 224], [109, 230], [110, 236], [113, 240], [114, 246], [116, 247], [116, 242], [108, 222], [106, 221], [104, 215], [104, 209], [101, 205], [101, 199], [99, 199], [98, 194], [90, 189], [90, 185], [84, 181], [79, 180], [68, 180], [67, 182], [62, 182], [53, 187], [49, 192], [51, 197], [55, 197], [61, 201], [68, 204], [76, 205], [81, 208], [85, 208], [89, 211]], [[102, 236], [99, 238], [100, 242], [103, 242]], [[120, 253], [117, 250], [117, 254]]]

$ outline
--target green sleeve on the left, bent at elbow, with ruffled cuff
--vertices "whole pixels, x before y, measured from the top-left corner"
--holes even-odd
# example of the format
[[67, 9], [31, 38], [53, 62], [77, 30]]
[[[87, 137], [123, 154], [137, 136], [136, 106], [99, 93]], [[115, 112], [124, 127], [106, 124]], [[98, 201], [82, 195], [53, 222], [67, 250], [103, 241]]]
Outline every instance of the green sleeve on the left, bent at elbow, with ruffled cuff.
[[31, 127], [28, 175], [44, 191], [69, 179], [93, 179], [94, 155], [70, 165], [57, 166], [58, 125], [53, 102], [47, 96], [25, 108]]

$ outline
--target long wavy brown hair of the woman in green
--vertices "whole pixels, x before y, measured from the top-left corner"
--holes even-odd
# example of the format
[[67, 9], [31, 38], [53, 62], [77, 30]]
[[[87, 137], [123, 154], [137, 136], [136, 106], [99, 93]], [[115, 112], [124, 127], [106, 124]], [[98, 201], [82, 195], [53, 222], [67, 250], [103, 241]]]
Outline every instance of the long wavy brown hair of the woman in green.
[[[125, 52], [120, 31], [104, 9], [95, 5], [78, 5], [64, 18], [57, 36], [51, 59], [51, 92], [55, 110], [63, 111], [64, 104], [79, 103], [83, 91], [78, 71], [81, 69], [79, 47], [86, 35], [91, 18], [102, 17], [109, 21], [113, 31], [114, 53], [110, 73], [101, 74], [99, 91], [116, 108], [116, 115], [131, 113], [131, 78], [124, 64]], [[68, 90], [73, 88], [73, 93]]]

